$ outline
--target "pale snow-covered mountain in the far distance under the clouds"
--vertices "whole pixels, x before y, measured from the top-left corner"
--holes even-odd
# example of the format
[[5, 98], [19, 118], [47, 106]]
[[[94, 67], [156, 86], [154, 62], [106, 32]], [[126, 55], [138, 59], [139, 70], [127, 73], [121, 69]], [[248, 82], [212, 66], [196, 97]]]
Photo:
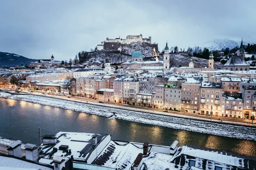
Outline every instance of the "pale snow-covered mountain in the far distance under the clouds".
[[[196, 46], [199, 46], [201, 48], [208, 48], [209, 50], [221, 50], [222, 48], [234, 48], [236, 46], [240, 46], [240, 43], [241, 42], [237, 42], [235, 40], [230, 40], [228, 38], [225, 38], [225, 39], [218, 39], [218, 40], [212, 40], [212, 41], [208, 41], [208, 42], [205, 42], [204, 44], [201, 44], [201, 45], [196, 45]], [[244, 44], [246, 44], [244, 42]]]

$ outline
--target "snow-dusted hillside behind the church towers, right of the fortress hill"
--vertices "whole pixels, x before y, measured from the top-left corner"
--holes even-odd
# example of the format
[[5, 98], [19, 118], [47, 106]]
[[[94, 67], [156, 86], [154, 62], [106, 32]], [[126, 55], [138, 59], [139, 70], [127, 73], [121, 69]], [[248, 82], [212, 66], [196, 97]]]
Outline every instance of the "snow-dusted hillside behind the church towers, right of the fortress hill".
[[[208, 59], [201, 59], [198, 57], [189, 57], [187, 54], [170, 54], [171, 67], [189, 66], [189, 62], [192, 59], [195, 68], [208, 67]], [[214, 62], [215, 69], [223, 69], [221, 62]]]

